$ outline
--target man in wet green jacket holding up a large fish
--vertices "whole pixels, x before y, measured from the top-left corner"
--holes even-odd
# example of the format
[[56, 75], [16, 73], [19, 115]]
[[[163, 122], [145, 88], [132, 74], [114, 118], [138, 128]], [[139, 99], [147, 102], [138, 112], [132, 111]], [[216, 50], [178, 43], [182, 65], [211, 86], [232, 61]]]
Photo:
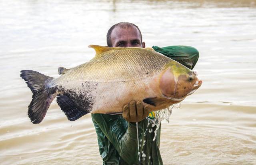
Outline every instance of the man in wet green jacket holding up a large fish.
[[[128, 22], [113, 25], [107, 34], [109, 47], [140, 47], [145, 48], [139, 28]], [[187, 66], [194, 68], [199, 53], [189, 46], [152, 47], [155, 51], [164, 54]], [[149, 115], [148, 115], [149, 114]], [[140, 160], [142, 165], [162, 165], [160, 155], [160, 129], [154, 131], [152, 127], [154, 112], [143, 107], [138, 101], [130, 101], [124, 105], [122, 115], [92, 114], [92, 121], [98, 135], [98, 145], [103, 165], [134, 165], [139, 164], [138, 141], [136, 123], [138, 121]], [[146, 155], [142, 157], [142, 153]], [[142, 159], [143, 158], [143, 159]]]

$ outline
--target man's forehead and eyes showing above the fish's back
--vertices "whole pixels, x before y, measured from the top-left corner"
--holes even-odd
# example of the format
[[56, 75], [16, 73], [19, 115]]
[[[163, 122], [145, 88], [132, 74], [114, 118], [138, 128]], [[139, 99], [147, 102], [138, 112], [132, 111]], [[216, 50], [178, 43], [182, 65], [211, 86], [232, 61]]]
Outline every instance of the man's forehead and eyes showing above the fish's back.
[[113, 47], [145, 48], [145, 42], [141, 41], [140, 32], [134, 26], [116, 27], [113, 29], [110, 38]]

